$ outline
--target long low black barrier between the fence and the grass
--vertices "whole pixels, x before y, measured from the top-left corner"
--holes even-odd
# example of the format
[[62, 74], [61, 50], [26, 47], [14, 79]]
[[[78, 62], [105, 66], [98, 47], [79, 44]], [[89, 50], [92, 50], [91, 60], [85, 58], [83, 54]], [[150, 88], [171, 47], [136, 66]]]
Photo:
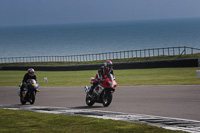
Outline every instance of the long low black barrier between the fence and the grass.
[[[73, 65], [73, 66], [4, 66], [2, 70], [27, 70], [34, 68], [36, 71], [79, 71], [98, 70], [102, 64], [94, 65]], [[170, 68], [170, 67], [198, 67], [198, 58], [177, 59], [160, 61], [138, 61], [126, 63], [114, 63], [115, 70], [120, 69], [142, 69], [142, 68]]]

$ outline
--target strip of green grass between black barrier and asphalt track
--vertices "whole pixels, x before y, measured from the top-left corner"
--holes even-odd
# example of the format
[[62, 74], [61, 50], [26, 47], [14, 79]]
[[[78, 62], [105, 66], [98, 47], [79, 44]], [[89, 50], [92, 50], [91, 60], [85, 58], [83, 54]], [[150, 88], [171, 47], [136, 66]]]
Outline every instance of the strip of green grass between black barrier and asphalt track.
[[[199, 67], [114, 70], [118, 85], [187, 85], [200, 84], [196, 78]], [[0, 86], [18, 86], [26, 71], [0, 71]], [[36, 71], [42, 87], [90, 85], [91, 71]], [[48, 83], [44, 82], [48, 78]]]

